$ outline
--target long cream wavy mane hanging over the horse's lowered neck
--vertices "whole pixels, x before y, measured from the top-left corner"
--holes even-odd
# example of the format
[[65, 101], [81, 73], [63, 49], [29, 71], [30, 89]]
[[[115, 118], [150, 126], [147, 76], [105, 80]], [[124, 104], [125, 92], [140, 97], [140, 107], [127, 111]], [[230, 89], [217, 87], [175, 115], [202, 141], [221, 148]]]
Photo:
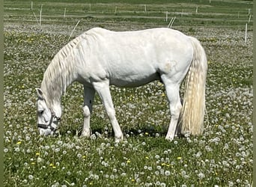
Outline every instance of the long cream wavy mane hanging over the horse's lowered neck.
[[59, 102], [62, 93], [74, 79], [74, 57], [73, 48], [82, 40], [81, 37], [76, 37], [65, 45], [52, 59], [51, 63], [43, 74], [43, 82], [41, 89], [46, 102], [52, 106], [54, 102]]

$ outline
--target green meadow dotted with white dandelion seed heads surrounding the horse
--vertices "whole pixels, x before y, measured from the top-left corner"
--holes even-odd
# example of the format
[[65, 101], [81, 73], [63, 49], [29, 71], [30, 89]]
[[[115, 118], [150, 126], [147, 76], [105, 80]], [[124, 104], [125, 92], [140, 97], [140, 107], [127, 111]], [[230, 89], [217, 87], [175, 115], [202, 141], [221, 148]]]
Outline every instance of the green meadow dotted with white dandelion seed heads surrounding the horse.
[[[34, 1], [32, 9], [31, 1], [4, 1], [4, 186], [252, 186], [249, 9], [252, 1], [147, 1], [146, 10], [140, 1]], [[70, 37], [94, 26], [167, 27], [174, 16], [173, 28], [197, 37], [207, 52], [203, 135], [165, 141], [170, 114], [160, 82], [111, 88], [125, 134], [120, 144], [98, 96], [93, 135], [79, 137], [83, 90], [78, 83], [62, 97], [58, 134], [38, 135], [34, 88]]]

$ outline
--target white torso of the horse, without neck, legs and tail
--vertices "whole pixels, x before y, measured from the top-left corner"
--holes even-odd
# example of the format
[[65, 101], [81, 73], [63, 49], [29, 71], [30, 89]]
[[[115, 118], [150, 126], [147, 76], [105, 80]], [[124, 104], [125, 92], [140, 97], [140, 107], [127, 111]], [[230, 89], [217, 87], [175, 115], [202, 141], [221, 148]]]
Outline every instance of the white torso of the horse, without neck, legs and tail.
[[85, 36], [90, 45], [86, 64], [94, 64], [90, 71], [104, 72], [113, 85], [144, 85], [160, 79], [160, 74], [186, 69], [192, 61], [189, 37], [169, 28], [120, 32], [92, 28]]

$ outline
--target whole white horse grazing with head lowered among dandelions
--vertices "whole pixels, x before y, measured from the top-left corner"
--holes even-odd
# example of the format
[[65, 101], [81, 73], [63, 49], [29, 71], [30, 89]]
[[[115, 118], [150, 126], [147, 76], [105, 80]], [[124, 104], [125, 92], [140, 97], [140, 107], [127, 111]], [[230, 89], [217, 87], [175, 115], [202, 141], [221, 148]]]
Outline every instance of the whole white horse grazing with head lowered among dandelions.
[[[187, 75], [187, 76], [186, 76]], [[183, 105], [180, 83], [186, 78]], [[67, 43], [52, 59], [37, 88], [37, 126], [40, 135], [58, 128], [61, 95], [72, 82], [84, 85], [82, 136], [90, 137], [94, 93], [99, 94], [115, 132], [124, 136], [115, 117], [109, 85], [138, 87], [154, 80], [165, 85], [171, 111], [166, 139], [173, 140], [180, 117], [181, 132], [200, 135], [204, 127], [207, 58], [194, 37], [169, 28], [108, 31], [92, 28]]]

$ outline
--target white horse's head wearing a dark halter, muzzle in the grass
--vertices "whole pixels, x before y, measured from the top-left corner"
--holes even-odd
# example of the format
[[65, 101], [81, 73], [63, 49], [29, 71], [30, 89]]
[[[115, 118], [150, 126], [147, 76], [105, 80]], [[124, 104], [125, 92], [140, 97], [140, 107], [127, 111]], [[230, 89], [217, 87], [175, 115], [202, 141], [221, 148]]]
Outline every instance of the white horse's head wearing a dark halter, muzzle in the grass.
[[40, 135], [53, 135], [58, 127], [59, 117], [46, 103], [43, 91], [37, 88], [37, 127]]

